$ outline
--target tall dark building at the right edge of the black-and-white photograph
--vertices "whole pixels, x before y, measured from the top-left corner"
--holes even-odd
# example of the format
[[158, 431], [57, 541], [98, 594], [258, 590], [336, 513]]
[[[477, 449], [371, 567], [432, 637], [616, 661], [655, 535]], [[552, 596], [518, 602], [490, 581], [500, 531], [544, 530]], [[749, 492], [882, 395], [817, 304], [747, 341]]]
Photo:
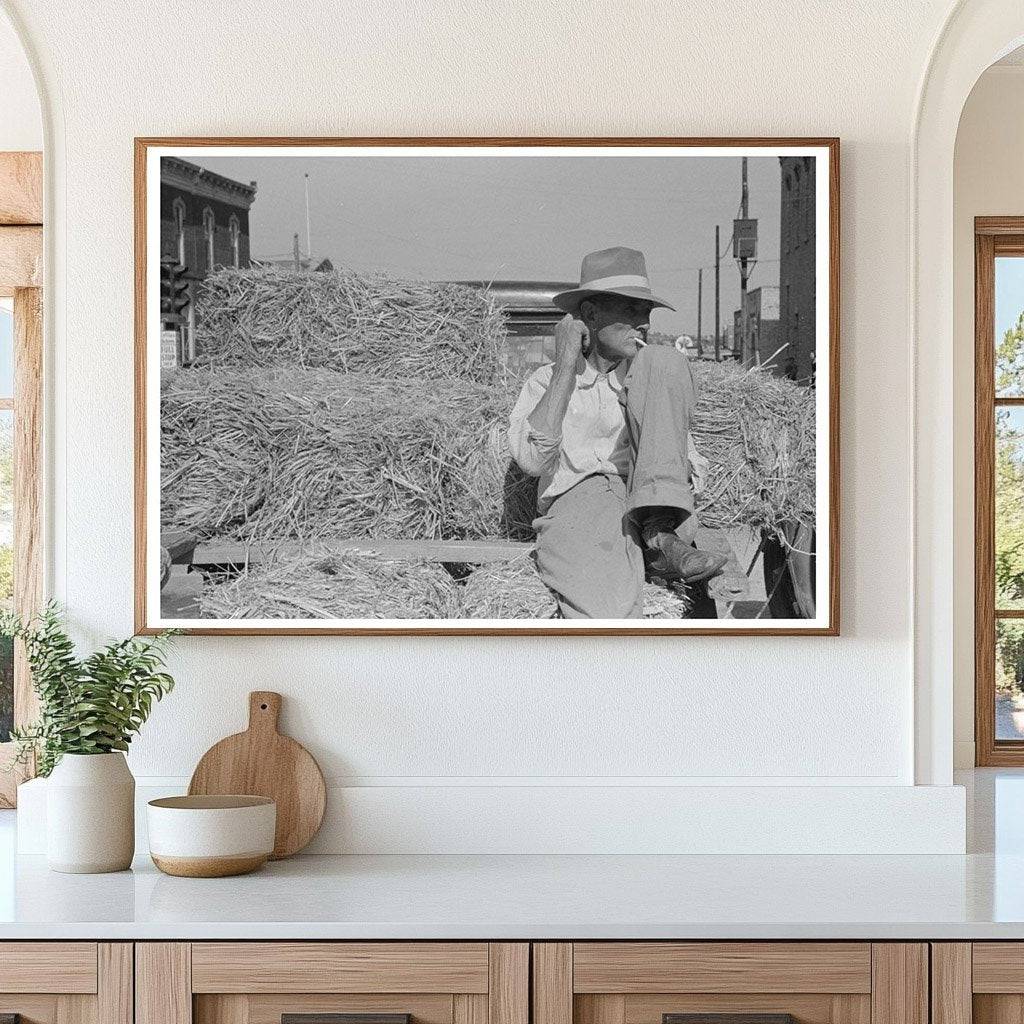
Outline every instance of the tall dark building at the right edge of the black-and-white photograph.
[[814, 378], [815, 200], [813, 157], [779, 157], [782, 203], [779, 239], [779, 345], [782, 371], [793, 380]]

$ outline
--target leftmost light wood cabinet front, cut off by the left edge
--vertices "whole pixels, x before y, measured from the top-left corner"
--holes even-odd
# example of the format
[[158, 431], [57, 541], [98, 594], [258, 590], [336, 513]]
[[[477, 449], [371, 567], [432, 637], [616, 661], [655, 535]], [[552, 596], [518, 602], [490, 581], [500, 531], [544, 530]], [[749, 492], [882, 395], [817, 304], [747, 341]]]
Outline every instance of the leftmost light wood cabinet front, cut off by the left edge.
[[0, 1017], [132, 1024], [129, 942], [0, 942]]

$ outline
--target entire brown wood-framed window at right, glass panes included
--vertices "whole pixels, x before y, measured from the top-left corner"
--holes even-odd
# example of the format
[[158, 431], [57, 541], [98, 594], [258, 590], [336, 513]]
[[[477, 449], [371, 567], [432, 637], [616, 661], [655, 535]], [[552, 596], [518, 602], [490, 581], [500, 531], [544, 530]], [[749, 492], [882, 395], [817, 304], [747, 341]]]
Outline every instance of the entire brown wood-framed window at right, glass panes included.
[[975, 758], [1024, 765], [1024, 217], [975, 248]]

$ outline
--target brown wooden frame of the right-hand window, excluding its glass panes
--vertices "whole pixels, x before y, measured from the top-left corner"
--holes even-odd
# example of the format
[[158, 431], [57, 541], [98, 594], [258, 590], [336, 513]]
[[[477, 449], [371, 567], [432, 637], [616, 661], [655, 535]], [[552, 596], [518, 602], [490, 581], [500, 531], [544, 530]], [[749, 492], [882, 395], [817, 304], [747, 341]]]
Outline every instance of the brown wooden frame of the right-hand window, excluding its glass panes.
[[995, 260], [1024, 258], [1024, 216], [976, 217], [974, 359], [975, 764], [1024, 766], [1024, 740], [995, 736], [995, 631], [1024, 622], [1024, 608], [995, 607], [995, 414], [1024, 408], [1024, 397], [995, 395]]

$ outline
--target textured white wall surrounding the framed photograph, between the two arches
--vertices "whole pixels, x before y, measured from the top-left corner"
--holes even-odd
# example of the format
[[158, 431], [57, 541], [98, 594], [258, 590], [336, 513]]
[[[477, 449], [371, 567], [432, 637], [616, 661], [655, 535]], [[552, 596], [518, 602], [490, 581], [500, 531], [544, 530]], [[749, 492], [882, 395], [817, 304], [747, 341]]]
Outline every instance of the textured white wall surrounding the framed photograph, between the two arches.
[[53, 113], [52, 584], [92, 637], [132, 627], [134, 135], [843, 139], [841, 638], [183, 639], [137, 773], [186, 776], [261, 687], [335, 784], [425, 804], [912, 782], [908, 154], [946, 0], [7, 5]]

